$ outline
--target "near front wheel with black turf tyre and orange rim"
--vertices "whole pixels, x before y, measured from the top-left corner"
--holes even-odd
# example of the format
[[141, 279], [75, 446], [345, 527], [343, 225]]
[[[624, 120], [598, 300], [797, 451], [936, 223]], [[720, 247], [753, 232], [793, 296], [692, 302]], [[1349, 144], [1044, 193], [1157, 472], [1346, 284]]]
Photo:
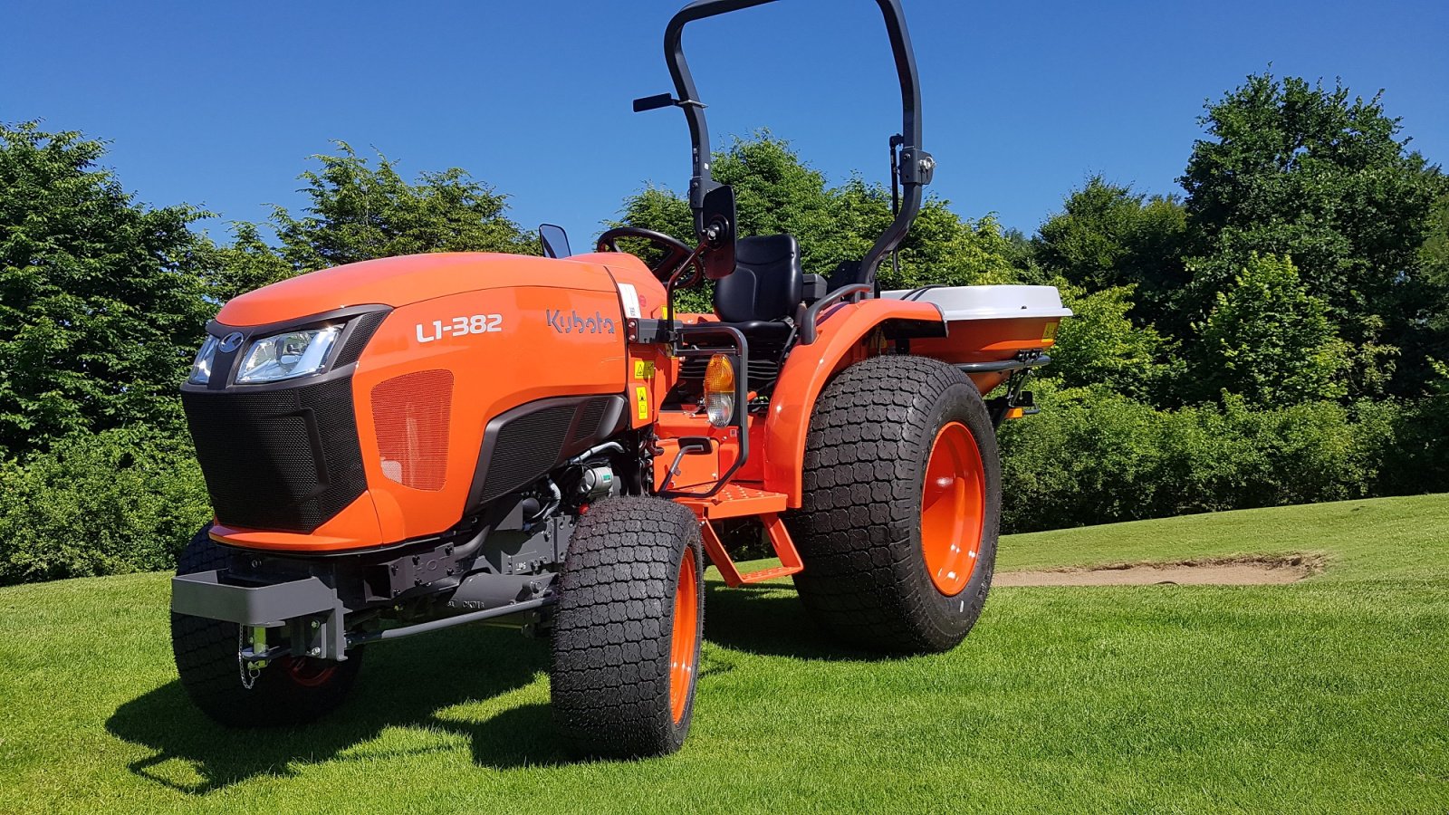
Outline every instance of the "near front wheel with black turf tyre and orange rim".
[[554, 718], [575, 750], [662, 756], [694, 716], [704, 553], [688, 509], [593, 505], [574, 529], [554, 616]]

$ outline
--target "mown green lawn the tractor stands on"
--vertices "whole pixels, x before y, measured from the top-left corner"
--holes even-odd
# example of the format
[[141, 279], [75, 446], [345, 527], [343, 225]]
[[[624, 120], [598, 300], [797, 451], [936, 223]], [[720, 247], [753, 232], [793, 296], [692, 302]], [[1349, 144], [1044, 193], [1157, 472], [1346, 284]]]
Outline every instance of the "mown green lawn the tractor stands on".
[[1314, 551], [1293, 586], [1000, 589], [949, 654], [824, 642], [788, 583], [711, 584], [694, 731], [571, 763], [548, 650], [465, 628], [377, 647], [300, 731], [210, 725], [167, 577], [0, 590], [0, 812], [1445, 812], [1449, 496], [1003, 541], [1001, 568]]

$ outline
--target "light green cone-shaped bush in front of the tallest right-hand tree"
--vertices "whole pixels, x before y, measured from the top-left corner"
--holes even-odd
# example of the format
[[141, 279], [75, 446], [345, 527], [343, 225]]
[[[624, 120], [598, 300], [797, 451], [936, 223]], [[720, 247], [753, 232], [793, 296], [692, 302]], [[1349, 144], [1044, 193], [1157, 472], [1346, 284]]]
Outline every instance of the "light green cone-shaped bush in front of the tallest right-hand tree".
[[1252, 255], [1195, 328], [1190, 370], [1207, 397], [1223, 390], [1269, 406], [1348, 393], [1348, 344], [1287, 258]]

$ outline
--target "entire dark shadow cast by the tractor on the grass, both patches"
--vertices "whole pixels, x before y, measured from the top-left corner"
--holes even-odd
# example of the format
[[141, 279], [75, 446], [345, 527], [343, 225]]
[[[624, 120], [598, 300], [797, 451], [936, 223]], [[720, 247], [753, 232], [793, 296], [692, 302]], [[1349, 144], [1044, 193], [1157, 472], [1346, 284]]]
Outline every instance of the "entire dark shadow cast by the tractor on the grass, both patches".
[[[788, 586], [726, 589], [710, 582], [706, 637], [726, 648], [803, 660], [881, 660], [833, 644]], [[574, 763], [545, 702], [468, 721], [467, 703], [532, 684], [549, 664], [548, 642], [516, 631], [464, 626], [372, 647], [352, 696], [335, 713], [300, 728], [227, 729], [196, 709], [181, 683], [168, 682], [123, 705], [106, 729], [155, 751], [128, 769], [152, 783], [206, 795], [262, 774], [296, 774], [297, 764], [368, 760], [368, 742], [388, 728], [430, 729], [464, 738], [474, 764], [496, 770]], [[713, 670], [706, 667], [701, 676]], [[461, 706], [461, 708], [459, 708]], [[445, 753], [451, 744], [412, 753]], [[354, 750], [362, 748], [354, 754]], [[384, 748], [385, 756], [398, 750]], [[401, 750], [407, 754], [409, 750]]]

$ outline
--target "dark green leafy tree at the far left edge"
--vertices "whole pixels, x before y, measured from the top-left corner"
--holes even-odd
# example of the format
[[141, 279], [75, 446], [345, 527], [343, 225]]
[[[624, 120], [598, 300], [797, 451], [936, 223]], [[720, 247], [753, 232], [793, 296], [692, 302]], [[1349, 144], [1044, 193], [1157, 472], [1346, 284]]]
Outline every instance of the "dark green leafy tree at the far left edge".
[[174, 425], [213, 309], [188, 206], [135, 203], [101, 142], [0, 125], [0, 457]]

